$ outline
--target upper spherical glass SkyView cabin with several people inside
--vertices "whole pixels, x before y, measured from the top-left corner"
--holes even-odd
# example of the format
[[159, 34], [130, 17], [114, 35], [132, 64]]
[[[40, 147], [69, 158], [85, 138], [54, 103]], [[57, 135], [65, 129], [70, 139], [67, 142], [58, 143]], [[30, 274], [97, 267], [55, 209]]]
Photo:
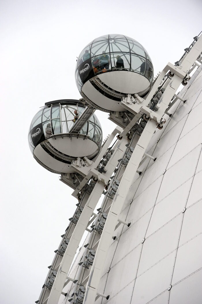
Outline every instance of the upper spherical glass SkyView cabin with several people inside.
[[91, 41], [80, 53], [75, 78], [84, 99], [102, 111], [123, 111], [126, 94], [145, 95], [153, 80], [152, 61], [136, 40], [109, 34]]

